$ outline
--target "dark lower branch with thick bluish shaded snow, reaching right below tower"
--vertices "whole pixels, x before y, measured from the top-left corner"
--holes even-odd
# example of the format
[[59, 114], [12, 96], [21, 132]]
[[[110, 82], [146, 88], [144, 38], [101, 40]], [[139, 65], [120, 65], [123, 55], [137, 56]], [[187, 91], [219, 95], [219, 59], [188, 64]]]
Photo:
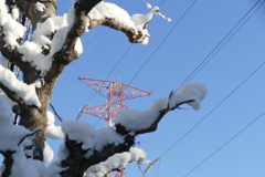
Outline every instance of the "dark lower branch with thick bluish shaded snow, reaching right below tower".
[[[160, 119], [182, 104], [199, 110], [206, 93], [203, 84], [184, 84], [178, 92], [171, 92], [169, 97], [156, 100], [147, 111], [119, 111], [116, 114], [116, 129], [104, 127], [96, 131], [81, 121], [62, 119], [65, 140], [61, 145], [59, 160], [49, 166], [47, 174], [83, 177], [87, 170], [87, 177], [96, 177], [110, 170], [123, 169], [130, 162], [145, 162], [145, 153], [131, 148], [135, 136], [156, 131]], [[54, 118], [49, 121], [49, 124], [53, 123]]]

